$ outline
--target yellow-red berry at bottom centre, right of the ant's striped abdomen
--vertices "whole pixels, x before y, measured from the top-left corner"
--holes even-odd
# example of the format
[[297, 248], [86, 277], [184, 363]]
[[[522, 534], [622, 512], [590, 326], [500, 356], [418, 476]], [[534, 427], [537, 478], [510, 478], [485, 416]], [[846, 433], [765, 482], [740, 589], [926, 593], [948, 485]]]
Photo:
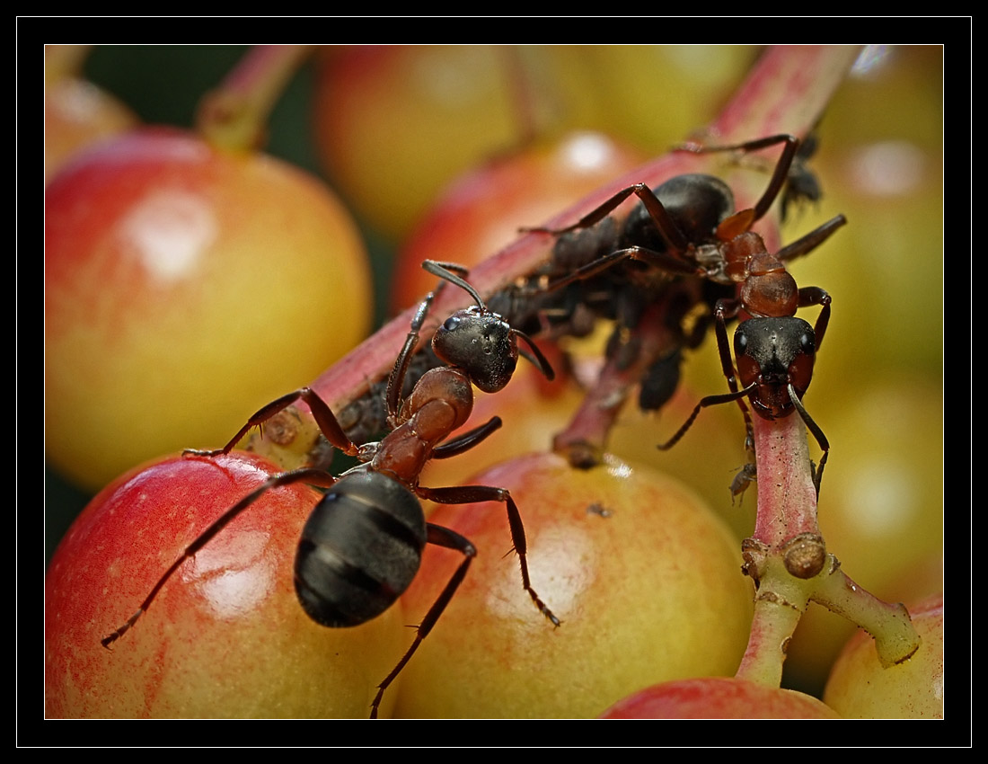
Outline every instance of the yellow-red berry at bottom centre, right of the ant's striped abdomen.
[[[514, 432], [507, 417], [522, 409], [504, 411], [506, 433]], [[575, 469], [542, 453], [462, 482], [517, 497], [532, 579], [561, 626], [546, 629], [518, 596], [518, 558], [505, 553], [511, 537], [500, 513], [438, 507], [429, 521], [470, 539], [477, 556], [403, 672], [396, 716], [592, 718], [642, 685], [736, 669], [750, 584], [724, 526], [673, 477], [610, 458]], [[452, 553], [426, 548], [401, 599], [409, 623], [427, 612], [454, 563]]]

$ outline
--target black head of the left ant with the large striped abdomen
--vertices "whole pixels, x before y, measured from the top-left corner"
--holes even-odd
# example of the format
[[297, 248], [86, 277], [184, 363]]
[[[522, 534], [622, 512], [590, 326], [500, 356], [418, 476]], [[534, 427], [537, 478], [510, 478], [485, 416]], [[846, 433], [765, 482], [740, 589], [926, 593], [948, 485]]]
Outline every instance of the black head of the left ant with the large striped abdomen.
[[433, 350], [462, 369], [484, 392], [497, 392], [511, 381], [518, 365], [516, 332], [497, 313], [478, 305], [457, 310], [436, 330]]

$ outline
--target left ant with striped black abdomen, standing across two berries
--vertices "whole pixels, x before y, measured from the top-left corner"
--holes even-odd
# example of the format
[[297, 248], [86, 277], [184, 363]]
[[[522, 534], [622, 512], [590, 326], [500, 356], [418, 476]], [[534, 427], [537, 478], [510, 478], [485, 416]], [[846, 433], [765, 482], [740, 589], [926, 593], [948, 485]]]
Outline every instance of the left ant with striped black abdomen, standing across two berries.
[[[455, 550], [464, 557], [418, 626], [411, 646], [377, 686], [371, 704], [371, 719], [377, 716], [384, 691], [436, 625], [476, 555], [476, 549], [466, 538], [449, 528], [426, 522], [420, 498], [441, 504], [503, 502], [507, 507], [514, 551], [521, 563], [522, 586], [539, 612], [554, 627], [559, 626], [559, 619], [530, 583], [525, 527], [509, 491], [487, 485], [449, 488], [419, 485], [419, 476], [429, 460], [461, 454], [500, 428], [501, 419], [495, 416], [486, 424], [447, 441], [473, 408], [471, 383], [486, 392], [502, 389], [512, 378], [520, 352], [532, 360], [548, 380], [554, 378], [552, 367], [528, 335], [512, 328], [500, 315], [489, 310], [473, 287], [454, 273], [458, 271], [465, 275], [465, 269], [453, 263], [431, 260], [425, 261], [423, 268], [442, 281], [419, 305], [388, 378], [385, 398], [390, 432], [379, 443], [356, 445], [344, 434], [322, 398], [310, 388], [302, 387], [257, 411], [222, 449], [184, 452], [185, 456], [206, 458], [227, 454], [252, 427], [263, 424], [295, 401], [303, 400], [327, 440], [362, 464], [338, 477], [312, 467], [270, 477], [215, 520], [172, 563], [137, 612], [124, 626], [102, 639], [105, 647], [124, 636], [182, 563], [203, 549], [234, 517], [266, 491], [295, 482], [330, 489], [313, 508], [302, 529], [294, 564], [298, 600], [309, 617], [323, 626], [358, 626], [387, 610], [411, 584], [426, 544]], [[448, 282], [465, 290], [475, 304], [453, 313], [433, 337], [436, 355], [448, 366], [424, 374], [402, 400], [402, 384], [418, 344], [419, 332], [433, 299]], [[531, 354], [519, 350], [519, 339], [528, 345]], [[383, 549], [388, 550], [386, 555], [382, 554]]]

